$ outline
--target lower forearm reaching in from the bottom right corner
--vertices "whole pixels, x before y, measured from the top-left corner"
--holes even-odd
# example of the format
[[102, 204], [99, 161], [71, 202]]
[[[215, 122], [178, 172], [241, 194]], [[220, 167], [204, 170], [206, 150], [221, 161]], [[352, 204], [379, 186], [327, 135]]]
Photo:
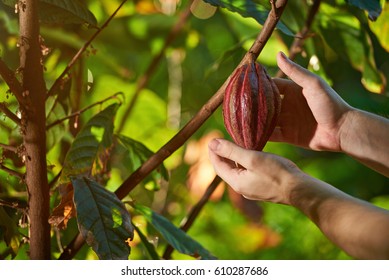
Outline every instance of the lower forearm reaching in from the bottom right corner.
[[291, 191], [289, 202], [350, 256], [389, 259], [389, 211], [310, 177]]

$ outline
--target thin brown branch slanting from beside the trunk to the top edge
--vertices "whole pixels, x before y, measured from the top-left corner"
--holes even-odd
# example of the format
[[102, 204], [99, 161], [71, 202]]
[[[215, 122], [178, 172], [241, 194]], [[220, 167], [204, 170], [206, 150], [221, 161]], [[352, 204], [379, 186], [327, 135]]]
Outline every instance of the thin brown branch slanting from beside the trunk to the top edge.
[[92, 44], [93, 40], [108, 26], [108, 24], [111, 22], [111, 20], [115, 17], [117, 12], [121, 9], [121, 7], [127, 2], [127, 0], [123, 0], [119, 7], [113, 12], [113, 14], [104, 22], [104, 24], [91, 36], [91, 38], [82, 46], [81, 49], [78, 50], [78, 52], [74, 55], [72, 60], [68, 63], [65, 70], [59, 75], [59, 77], [55, 80], [54, 84], [51, 86], [50, 90], [48, 91], [47, 97], [54, 95], [54, 92], [57, 90], [57, 88], [61, 85], [63, 77], [67, 73], [69, 73], [70, 69], [74, 66], [74, 64], [77, 62], [77, 60], [81, 57], [81, 55], [87, 50], [87, 48]]

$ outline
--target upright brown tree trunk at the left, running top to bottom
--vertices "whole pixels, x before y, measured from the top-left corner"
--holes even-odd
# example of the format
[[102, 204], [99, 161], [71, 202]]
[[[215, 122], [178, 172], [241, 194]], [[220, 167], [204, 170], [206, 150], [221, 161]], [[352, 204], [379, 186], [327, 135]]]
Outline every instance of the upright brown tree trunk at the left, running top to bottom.
[[46, 85], [40, 49], [39, 0], [18, 2], [20, 20], [20, 73], [23, 94], [21, 133], [24, 139], [30, 258], [50, 258], [49, 185], [46, 166]]

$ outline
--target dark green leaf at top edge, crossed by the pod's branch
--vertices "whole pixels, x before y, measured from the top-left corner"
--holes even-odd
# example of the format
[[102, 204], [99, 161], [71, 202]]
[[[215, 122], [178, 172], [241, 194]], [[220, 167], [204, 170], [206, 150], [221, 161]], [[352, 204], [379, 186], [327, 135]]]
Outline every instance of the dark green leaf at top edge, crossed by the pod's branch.
[[[255, 3], [251, 0], [204, 0], [204, 2], [211, 4], [213, 6], [225, 8], [231, 12], [236, 12], [242, 17], [254, 18], [259, 24], [263, 25], [269, 14], [269, 10], [264, 6]], [[289, 28], [282, 22], [279, 21], [277, 28], [280, 29], [283, 33], [289, 36], [294, 36], [294, 34], [289, 30]]]

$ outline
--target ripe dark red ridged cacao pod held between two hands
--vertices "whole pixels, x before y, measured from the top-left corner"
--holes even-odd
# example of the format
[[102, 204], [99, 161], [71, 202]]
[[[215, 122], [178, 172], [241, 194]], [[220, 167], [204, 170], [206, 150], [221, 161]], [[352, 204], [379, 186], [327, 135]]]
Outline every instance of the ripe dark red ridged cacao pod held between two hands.
[[236, 144], [262, 150], [277, 124], [281, 96], [265, 68], [254, 61], [240, 66], [226, 87], [224, 125]]

